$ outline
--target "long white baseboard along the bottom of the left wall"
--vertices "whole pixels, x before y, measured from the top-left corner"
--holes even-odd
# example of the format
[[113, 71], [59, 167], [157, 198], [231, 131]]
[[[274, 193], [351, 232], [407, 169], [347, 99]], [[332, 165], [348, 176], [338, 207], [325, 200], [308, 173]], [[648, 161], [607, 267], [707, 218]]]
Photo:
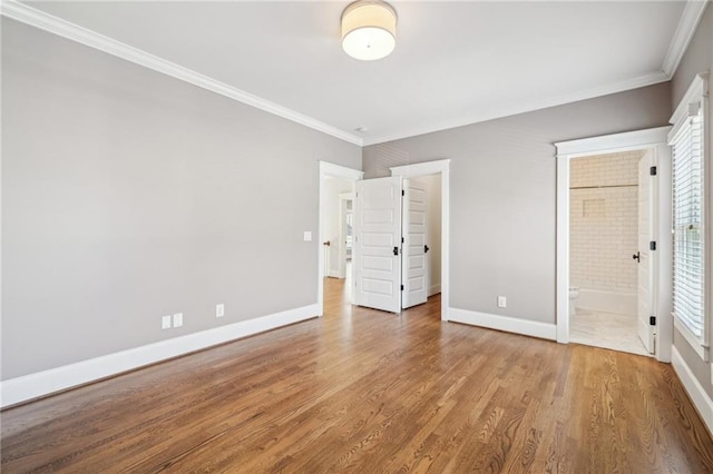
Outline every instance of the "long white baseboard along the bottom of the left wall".
[[10, 378], [0, 382], [0, 407], [14, 405], [241, 337], [299, 323], [315, 317], [318, 314], [319, 305], [302, 306]]

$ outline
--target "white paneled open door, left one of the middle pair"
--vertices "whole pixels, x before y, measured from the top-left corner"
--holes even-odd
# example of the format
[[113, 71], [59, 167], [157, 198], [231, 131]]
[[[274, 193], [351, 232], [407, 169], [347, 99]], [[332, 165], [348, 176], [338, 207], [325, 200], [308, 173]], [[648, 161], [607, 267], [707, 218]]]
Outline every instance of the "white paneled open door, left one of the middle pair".
[[356, 181], [354, 303], [401, 312], [401, 178]]

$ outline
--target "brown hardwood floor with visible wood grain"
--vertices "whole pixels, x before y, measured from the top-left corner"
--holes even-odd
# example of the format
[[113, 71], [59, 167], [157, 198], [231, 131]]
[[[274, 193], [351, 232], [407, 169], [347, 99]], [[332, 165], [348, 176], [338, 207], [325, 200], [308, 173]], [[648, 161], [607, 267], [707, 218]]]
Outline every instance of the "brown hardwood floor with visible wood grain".
[[323, 318], [2, 412], [2, 472], [713, 472], [667, 364], [343, 290]]

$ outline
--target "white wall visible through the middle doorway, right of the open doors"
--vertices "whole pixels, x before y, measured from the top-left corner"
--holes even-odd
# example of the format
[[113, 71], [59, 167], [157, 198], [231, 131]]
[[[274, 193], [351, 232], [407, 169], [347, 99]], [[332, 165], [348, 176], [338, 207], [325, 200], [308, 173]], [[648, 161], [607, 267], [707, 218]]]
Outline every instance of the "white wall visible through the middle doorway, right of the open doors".
[[428, 296], [433, 296], [441, 292], [441, 176], [431, 175], [411, 178], [411, 181], [419, 182], [426, 188], [428, 194], [427, 214], [428, 236], [428, 268], [426, 278]]

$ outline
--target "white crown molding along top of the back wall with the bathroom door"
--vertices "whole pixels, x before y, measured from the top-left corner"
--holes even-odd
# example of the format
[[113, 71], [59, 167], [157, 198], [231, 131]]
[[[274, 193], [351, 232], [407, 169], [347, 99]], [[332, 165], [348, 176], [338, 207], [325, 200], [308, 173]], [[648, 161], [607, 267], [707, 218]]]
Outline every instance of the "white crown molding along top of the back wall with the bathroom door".
[[608, 96], [611, 93], [624, 92], [632, 89], [638, 89], [646, 86], [653, 86], [660, 82], [665, 82], [670, 78], [662, 71], [654, 72], [646, 76], [641, 76], [634, 79], [628, 79], [619, 82], [608, 83], [590, 89], [585, 89], [576, 92], [565, 93], [561, 96], [550, 97], [541, 100], [534, 100], [530, 102], [521, 102], [515, 107], [492, 108], [490, 110], [481, 111], [476, 115], [461, 116], [455, 120], [441, 121], [439, 124], [431, 124], [424, 127], [404, 129], [389, 135], [381, 135], [374, 137], [365, 137], [363, 146], [379, 145], [388, 141], [400, 140], [402, 138], [416, 137], [419, 135], [432, 134], [436, 131], [448, 130], [457, 127], [465, 127], [482, 121], [495, 120], [504, 117], [516, 116], [519, 113], [533, 112], [536, 110], [547, 109], [556, 106], [564, 106], [567, 103], [578, 102], [582, 100], [594, 99], [596, 97]]

